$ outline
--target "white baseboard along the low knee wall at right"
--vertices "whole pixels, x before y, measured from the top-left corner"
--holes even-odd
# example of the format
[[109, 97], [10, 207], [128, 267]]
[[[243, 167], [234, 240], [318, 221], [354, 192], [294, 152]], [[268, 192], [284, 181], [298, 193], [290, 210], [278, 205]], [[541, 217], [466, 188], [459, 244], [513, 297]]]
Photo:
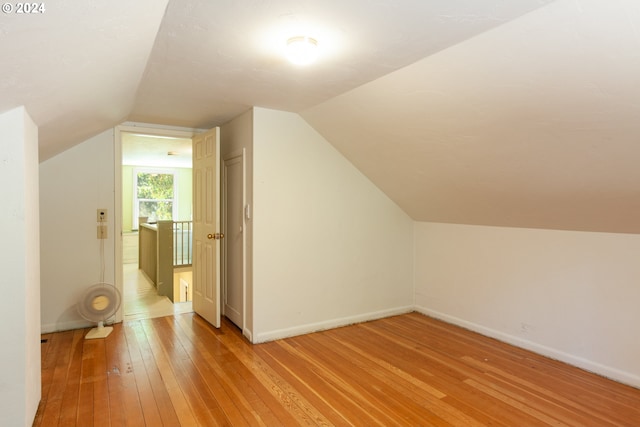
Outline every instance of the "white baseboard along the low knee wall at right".
[[538, 344], [532, 341], [522, 339], [513, 335], [506, 334], [504, 332], [497, 331], [495, 329], [487, 328], [477, 323], [469, 322], [459, 319], [448, 314], [440, 313], [435, 310], [431, 310], [425, 307], [415, 307], [415, 311], [422, 313], [426, 316], [433, 317], [435, 319], [442, 320], [453, 325], [460, 326], [470, 331], [477, 332], [481, 335], [485, 335], [491, 338], [495, 338], [499, 341], [507, 344], [514, 345], [516, 347], [523, 348], [525, 350], [532, 351], [542, 356], [549, 357], [550, 359], [559, 360], [561, 362], [568, 363], [576, 366], [585, 371], [592, 372], [594, 374], [601, 375], [603, 377], [618, 381], [623, 384], [630, 385], [632, 387], [640, 388], [640, 377], [629, 372], [621, 371], [610, 366], [602, 365], [600, 363], [593, 362], [582, 357], [574, 356], [569, 353], [565, 353], [561, 350], [557, 350], [552, 347], [547, 347], [542, 344]]

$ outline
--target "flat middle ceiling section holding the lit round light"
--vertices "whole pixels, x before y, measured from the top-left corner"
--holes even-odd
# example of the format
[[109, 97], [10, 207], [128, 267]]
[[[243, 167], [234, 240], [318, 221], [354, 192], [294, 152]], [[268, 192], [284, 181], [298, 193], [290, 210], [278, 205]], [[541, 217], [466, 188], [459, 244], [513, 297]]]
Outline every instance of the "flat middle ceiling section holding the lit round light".
[[[206, 128], [251, 106], [299, 112], [544, 3], [171, 1], [130, 119]], [[300, 34], [323, 49], [313, 67], [280, 49]]]

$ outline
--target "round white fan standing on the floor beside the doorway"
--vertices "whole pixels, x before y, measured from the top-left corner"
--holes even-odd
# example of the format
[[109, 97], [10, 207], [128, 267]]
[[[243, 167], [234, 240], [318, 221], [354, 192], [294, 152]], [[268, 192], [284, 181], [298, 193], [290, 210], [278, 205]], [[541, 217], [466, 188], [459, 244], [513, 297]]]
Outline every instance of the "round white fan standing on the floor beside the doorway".
[[121, 300], [120, 292], [108, 283], [96, 283], [82, 294], [78, 301], [78, 313], [98, 324], [87, 333], [85, 339], [106, 338], [113, 331], [113, 327], [104, 326], [104, 322], [118, 311]]

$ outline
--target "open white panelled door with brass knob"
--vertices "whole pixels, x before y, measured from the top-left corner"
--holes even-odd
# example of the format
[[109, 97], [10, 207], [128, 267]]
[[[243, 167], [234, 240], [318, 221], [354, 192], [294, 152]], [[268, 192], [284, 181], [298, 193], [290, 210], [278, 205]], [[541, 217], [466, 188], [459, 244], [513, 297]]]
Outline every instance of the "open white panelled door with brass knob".
[[193, 311], [220, 327], [220, 135], [193, 137]]

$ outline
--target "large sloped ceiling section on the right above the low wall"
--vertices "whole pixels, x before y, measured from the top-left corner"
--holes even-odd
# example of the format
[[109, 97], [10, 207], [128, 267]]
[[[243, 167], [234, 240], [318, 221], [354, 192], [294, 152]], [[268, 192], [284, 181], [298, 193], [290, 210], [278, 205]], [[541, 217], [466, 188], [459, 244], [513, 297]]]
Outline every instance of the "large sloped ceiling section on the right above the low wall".
[[414, 219], [640, 232], [640, 4], [560, 1], [302, 116]]

